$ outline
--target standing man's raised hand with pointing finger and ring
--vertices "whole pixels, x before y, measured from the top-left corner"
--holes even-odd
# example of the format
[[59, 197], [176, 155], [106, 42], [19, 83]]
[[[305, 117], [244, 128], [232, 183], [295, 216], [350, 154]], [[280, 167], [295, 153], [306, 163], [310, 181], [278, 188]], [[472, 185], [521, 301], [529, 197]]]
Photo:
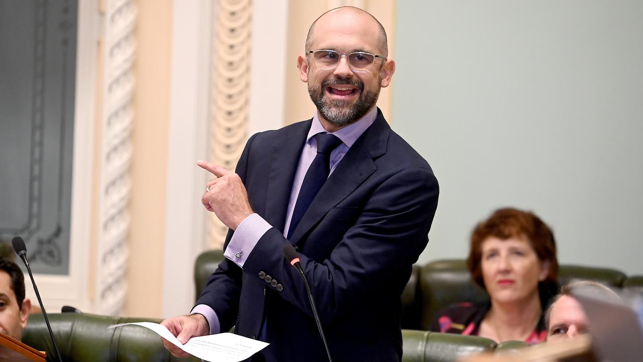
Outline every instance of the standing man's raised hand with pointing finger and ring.
[[197, 161], [199, 167], [217, 176], [208, 182], [209, 191], [201, 197], [201, 203], [217, 214], [217, 218], [232, 230], [253, 213], [248, 201], [246, 186], [236, 173], [206, 161]]

